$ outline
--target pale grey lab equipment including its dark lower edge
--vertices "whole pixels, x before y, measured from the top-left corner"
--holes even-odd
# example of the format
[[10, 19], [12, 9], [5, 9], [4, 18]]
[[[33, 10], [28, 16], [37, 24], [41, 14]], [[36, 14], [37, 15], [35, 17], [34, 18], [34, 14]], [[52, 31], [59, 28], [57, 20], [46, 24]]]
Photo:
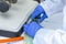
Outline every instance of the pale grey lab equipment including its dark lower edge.
[[18, 0], [8, 12], [0, 13], [0, 40], [21, 36], [24, 23], [37, 4], [35, 1]]

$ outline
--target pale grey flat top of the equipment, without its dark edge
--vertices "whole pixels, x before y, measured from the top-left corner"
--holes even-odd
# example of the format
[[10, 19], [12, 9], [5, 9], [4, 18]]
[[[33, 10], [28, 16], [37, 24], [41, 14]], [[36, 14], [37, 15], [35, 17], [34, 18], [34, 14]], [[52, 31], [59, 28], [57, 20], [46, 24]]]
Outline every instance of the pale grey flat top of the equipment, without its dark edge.
[[37, 2], [34, 1], [19, 1], [12, 4], [8, 12], [0, 13], [0, 30], [18, 32], [36, 6]]

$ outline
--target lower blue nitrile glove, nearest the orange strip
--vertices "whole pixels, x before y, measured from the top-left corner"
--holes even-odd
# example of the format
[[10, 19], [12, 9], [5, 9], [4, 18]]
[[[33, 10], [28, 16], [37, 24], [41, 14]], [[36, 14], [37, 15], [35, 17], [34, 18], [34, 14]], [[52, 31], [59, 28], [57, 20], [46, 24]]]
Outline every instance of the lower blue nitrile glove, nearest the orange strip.
[[28, 35], [34, 37], [35, 33], [41, 29], [42, 26], [36, 22], [31, 22], [29, 24], [24, 25], [24, 31]]

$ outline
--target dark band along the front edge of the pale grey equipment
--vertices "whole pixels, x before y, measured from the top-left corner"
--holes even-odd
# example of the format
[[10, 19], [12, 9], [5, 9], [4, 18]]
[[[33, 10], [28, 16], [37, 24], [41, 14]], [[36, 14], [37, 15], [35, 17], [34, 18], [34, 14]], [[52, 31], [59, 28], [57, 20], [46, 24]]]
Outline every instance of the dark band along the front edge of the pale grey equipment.
[[9, 32], [9, 31], [3, 31], [0, 30], [0, 36], [6, 36], [6, 37], [16, 37], [20, 36], [23, 33], [23, 28], [19, 32]]

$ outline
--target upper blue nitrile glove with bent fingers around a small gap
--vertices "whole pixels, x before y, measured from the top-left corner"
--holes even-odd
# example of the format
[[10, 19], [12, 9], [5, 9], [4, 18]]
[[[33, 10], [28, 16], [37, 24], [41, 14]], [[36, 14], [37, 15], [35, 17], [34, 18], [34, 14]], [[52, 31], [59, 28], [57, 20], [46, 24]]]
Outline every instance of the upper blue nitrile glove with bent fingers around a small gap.
[[[41, 16], [41, 14], [43, 14], [43, 15]], [[41, 6], [37, 6], [35, 8], [35, 10], [33, 11], [33, 13], [31, 15], [31, 20], [34, 20], [37, 16], [41, 16], [40, 22], [42, 22], [44, 19], [47, 18], [47, 14], [45, 13], [44, 9]]]

